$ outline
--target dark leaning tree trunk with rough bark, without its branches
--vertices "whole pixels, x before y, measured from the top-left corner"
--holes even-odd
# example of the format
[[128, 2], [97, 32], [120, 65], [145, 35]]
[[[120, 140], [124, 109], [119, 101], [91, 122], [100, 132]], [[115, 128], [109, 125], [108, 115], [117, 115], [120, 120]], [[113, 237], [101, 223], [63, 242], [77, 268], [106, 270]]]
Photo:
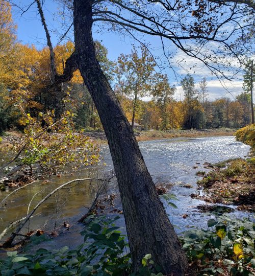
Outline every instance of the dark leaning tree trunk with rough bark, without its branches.
[[184, 275], [187, 259], [122, 108], [95, 57], [91, 1], [74, 0], [78, 67], [105, 129], [119, 185], [134, 270], [146, 254], [162, 272]]

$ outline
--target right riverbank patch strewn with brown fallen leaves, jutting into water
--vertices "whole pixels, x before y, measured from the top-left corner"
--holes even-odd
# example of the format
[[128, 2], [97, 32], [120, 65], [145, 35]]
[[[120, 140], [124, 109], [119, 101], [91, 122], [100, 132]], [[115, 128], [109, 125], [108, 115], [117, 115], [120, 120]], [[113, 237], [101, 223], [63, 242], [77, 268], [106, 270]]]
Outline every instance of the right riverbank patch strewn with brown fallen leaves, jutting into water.
[[238, 205], [237, 210], [255, 211], [255, 164], [252, 159], [232, 159], [214, 165], [197, 181], [205, 195], [191, 197], [211, 203]]

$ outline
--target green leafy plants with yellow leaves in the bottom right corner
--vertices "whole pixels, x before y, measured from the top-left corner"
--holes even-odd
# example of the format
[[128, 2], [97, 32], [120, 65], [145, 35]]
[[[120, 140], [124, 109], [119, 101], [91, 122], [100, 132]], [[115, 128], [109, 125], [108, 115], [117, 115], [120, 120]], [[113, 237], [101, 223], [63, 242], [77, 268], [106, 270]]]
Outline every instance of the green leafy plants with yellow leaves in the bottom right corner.
[[[184, 233], [183, 248], [202, 275], [252, 275], [255, 271], [255, 224], [226, 215], [208, 220], [208, 229]], [[199, 271], [197, 272], [199, 274]]]

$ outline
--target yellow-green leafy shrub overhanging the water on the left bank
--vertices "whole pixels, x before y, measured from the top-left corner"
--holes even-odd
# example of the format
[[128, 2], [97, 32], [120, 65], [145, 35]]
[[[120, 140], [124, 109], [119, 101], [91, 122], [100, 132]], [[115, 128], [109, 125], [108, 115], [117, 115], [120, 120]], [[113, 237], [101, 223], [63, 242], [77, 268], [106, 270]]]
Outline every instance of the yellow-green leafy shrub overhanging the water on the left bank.
[[[67, 165], [77, 169], [98, 162], [99, 148], [82, 131], [74, 132], [72, 117], [70, 111], [58, 120], [54, 111], [40, 112], [39, 118], [23, 114], [20, 123], [24, 126], [24, 135], [11, 146], [15, 157], [0, 169], [9, 171], [8, 176], [15, 176], [18, 171], [24, 175], [15, 181], [7, 179], [7, 185], [15, 186], [20, 181], [30, 180], [33, 170], [38, 167], [48, 174], [57, 174]], [[14, 163], [14, 168], [8, 167]]]

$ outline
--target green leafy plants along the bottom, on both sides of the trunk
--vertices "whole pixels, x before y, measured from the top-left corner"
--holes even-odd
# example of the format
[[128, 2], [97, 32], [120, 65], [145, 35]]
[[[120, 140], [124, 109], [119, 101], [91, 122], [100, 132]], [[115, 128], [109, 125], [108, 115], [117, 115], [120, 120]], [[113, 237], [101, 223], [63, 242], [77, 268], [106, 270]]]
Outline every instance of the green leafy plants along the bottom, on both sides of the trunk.
[[[34, 254], [7, 252], [0, 260], [2, 275], [140, 275], [163, 276], [151, 255], [144, 256], [137, 273], [132, 263], [127, 237], [115, 221], [120, 217], [90, 216], [81, 233], [84, 243], [74, 250], [40, 248]], [[255, 224], [248, 219], [233, 220], [225, 215], [208, 221], [208, 229], [193, 229], [181, 237], [194, 275], [252, 275], [255, 272]], [[31, 248], [47, 239], [33, 237]]]

